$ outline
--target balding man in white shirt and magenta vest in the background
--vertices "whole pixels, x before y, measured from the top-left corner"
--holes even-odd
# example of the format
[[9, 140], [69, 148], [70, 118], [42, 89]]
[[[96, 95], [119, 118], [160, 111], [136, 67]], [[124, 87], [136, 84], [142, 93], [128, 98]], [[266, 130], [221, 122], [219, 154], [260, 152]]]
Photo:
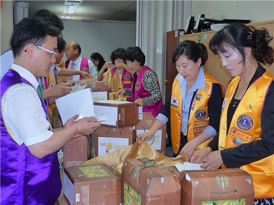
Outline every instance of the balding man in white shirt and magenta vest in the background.
[[[98, 72], [94, 63], [87, 58], [84, 58], [81, 55], [81, 46], [76, 41], [68, 42], [66, 48], [66, 57], [65, 68], [76, 70], [76, 71], [84, 71], [90, 74], [90, 76], [97, 78]], [[77, 81], [82, 80], [83, 77], [79, 75], [75, 75], [71, 77], [71, 80]]]

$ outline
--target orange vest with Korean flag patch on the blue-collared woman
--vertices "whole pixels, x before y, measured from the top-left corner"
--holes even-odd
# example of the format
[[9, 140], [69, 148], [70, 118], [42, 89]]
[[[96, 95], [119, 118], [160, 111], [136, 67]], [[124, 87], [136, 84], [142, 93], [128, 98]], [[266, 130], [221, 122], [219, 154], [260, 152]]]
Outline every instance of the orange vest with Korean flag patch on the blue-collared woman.
[[[180, 147], [180, 132], [181, 132], [181, 116], [182, 116], [182, 93], [179, 81], [177, 80], [178, 74], [172, 85], [171, 103], [170, 103], [170, 122], [171, 122], [171, 142], [174, 153], [178, 153]], [[190, 141], [198, 136], [204, 128], [209, 124], [208, 115], [208, 101], [211, 96], [213, 83], [218, 83], [213, 77], [205, 72], [205, 89], [199, 89], [196, 92], [193, 102], [190, 104], [190, 113], [188, 119], [188, 133], [187, 140]], [[220, 84], [221, 85], [221, 84]], [[221, 85], [223, 96], [224, 88]], [[205, 141], [196, 147], [202, 149], [206, 147], [211, 139]]]

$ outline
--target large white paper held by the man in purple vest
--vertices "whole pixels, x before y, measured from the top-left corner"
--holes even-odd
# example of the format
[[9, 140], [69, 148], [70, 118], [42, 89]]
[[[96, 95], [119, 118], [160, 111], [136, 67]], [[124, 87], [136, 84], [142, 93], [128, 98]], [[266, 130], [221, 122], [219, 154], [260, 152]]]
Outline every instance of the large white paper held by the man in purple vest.
[[95, 116], [90, 89], [71, 93], [57, 99], [55, 103], [63, 124], [75, 114], [82, 115], [82, 117]]

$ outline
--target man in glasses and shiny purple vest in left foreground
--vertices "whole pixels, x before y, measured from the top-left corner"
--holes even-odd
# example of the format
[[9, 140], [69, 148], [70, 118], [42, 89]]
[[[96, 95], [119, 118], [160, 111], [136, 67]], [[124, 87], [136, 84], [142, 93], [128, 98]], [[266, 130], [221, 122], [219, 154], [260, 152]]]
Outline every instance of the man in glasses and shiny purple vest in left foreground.
[[60, 131], [51, 129], [36, 78], [47, 76], [55, 62], [59, 34], [38, 17], [24, 18], [12, 33], [14, 64], [0, 88], [1, 205], [54, 205], [61, 193], [56, 151], [100, 127], [91, 117], [73, 122], [75, 115]]

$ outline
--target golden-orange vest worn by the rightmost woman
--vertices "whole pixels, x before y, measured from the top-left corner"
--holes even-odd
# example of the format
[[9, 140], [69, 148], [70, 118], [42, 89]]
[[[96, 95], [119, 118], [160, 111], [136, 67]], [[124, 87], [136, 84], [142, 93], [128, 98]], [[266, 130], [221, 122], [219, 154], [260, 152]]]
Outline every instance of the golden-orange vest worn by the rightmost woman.
[[[261, 140], [261, 113], [267, 91], [273, 76], [265, 73], [245, 93], [239, 103], [227, 133], [227, 111], [229, 104], [236, 92], [240, 77], [234, 78], [228, 86], [225, 104], [220, 120], [219, 149], [238, 147], [234, 141], [240, 144]], [[249, 121], [251, 126], [243, 126]], [[225, 168], [225, 166], [223, 166]], [[255, 198], [269, 198], [274, 196], [274, 155], [257, 162], [242, 166], [241, 169], [252, 175], [255, 189]]]

